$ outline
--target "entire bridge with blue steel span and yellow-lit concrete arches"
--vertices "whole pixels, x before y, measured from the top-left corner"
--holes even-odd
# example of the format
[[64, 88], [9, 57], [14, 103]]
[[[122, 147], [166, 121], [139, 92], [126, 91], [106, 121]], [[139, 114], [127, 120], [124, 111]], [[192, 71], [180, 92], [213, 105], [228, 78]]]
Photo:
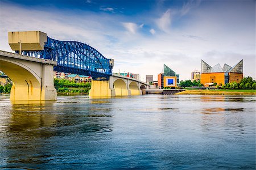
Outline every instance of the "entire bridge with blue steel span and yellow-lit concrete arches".
[[113, 74], [113, 59], [82, 42], [26, 31], [9, 32], [9, 44], [16, 54], [0, 51], [0, 70], [13, 80], [10, 100], [56, 100], [53, 71], [92, 76], [93, 97], [146, 94], [148, 84]]

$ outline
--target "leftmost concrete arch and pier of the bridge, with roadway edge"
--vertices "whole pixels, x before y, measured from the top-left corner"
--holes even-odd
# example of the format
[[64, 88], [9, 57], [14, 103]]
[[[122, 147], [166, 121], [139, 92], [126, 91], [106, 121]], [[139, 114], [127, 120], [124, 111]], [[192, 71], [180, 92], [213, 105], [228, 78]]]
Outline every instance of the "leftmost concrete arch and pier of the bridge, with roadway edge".
[[56, 61], [0, 51], [0, 70], [13, 81], [10, 100], [57, 100]]

